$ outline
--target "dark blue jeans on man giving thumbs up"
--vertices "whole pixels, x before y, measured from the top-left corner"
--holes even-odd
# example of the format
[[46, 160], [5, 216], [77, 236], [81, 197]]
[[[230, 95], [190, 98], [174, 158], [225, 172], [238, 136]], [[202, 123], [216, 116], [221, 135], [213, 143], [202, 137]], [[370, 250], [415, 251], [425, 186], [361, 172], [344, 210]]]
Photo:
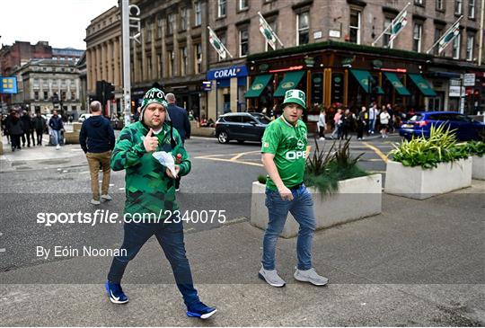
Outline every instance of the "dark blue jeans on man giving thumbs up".
[[146, 241], [155, 235], [172, 266], [173, 275], [185, 305], [197, 303], [199, 301], [197, 290], [194, 288], [189, 260], [185, 255], [182, 223], [125, 223], [124, 228], [125, 235], [120, 249], [126, 249], [127, 255], [113, 258], [108, 280], [120, 283], [128, 262], [133, 260]]

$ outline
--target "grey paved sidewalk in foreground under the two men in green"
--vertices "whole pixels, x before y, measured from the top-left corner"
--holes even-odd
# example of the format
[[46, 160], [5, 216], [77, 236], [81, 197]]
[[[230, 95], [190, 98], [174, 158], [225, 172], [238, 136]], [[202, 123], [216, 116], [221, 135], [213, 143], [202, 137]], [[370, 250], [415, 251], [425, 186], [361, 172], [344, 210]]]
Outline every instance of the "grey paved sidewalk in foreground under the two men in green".
[[[295, 239], [278, 242], [288, 284], [271, 288], [257, 278], [260, 229], [241, 222], [188, 234], [197, 288], [219, 309], [207, 325], [483, 326], [484, 192], [485, 182], [474, 181], [426, 200], [384, 194], [381, 215], [317, 232], [314, 266], [331, 279], [324, 288], [293, 279]], [[1, 324], [204, 325], [185, 317], [154, 239], [128, 266], [126, 306], [103, 295], [109, 265], [109, 258], [77, 257], [0, 272]], [[40, 276], [67, 282], [28, 284]]]

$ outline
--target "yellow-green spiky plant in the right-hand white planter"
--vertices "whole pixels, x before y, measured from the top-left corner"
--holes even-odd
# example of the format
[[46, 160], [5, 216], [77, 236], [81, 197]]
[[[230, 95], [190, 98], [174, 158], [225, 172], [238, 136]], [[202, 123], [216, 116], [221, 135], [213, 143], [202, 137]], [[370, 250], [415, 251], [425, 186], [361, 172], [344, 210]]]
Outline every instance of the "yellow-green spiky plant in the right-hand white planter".
[[468, 157], [466, 150], [456, 144], [454, 130], [446, 128], [444, 124], [431, 126], [428, 139], [412, 137], [410, 141], [404, 140], [393, 146], [389, 155], [392, 155], [394, 161], [404, 166], [421, 166], [423, 169], [432, 169], [437, 164]]

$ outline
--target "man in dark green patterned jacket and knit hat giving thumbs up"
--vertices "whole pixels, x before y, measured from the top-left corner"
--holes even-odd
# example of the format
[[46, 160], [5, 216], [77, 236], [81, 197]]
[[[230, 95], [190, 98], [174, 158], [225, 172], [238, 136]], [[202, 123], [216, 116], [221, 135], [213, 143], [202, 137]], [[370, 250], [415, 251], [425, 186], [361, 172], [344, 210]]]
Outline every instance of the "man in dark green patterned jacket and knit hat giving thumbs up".
[[113, 259], [106, 290], [112, 303], [128, 303], [128, 297], [120, 285], [121, 278], [128, 262], [154, 235], [172, 266], [177, 287], [187, 306], [187, 315], [207, 319], [216, 313], [216, 308], [200, 302], [193, 286], [190, 264], [185, 254], [182, 222], [175, 218], [165, 222], [165, 216], [176, 214], [179, 209], [175, 201], [175, 178], [152, 155], [154, 151], [165, 151], [173, 156], [180, 154], [181, 160], [175, 165], [175, 172], [177, 175], [190, 172], [190, 157], [182, 145], [181, 136], [170, 124], [167, 107], [163, 91], [150, 89], [145, 93], [139, 121], [120, 132], [113, 150], [111, 168], [113, 171], [126, 170], [125, 217], [133, 217], [136, 213], [142, 216], [145, 213], [154, 216], [163, 213], [163, 217], [159, 221], [125, 222], [120, 249], [126, 252]]

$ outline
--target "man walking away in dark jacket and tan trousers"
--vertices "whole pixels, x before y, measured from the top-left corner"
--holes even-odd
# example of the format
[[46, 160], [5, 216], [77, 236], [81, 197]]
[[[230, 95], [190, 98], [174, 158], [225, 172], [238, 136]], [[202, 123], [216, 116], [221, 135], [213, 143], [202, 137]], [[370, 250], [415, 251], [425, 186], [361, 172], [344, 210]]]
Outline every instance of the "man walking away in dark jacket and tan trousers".
[[91, 172], [91, 191], [93, 205], [100, 205], [99, 173], [102, 170], [101, 199], [111, 200], [108, 193], [110, 188], [110, 159], [115, 145], [115, 136], [110, 120], [101, 115], [101, 102], [91, 102], [92, 116], [84, 120], [79, 132], [79, 143], [83, 148]]

